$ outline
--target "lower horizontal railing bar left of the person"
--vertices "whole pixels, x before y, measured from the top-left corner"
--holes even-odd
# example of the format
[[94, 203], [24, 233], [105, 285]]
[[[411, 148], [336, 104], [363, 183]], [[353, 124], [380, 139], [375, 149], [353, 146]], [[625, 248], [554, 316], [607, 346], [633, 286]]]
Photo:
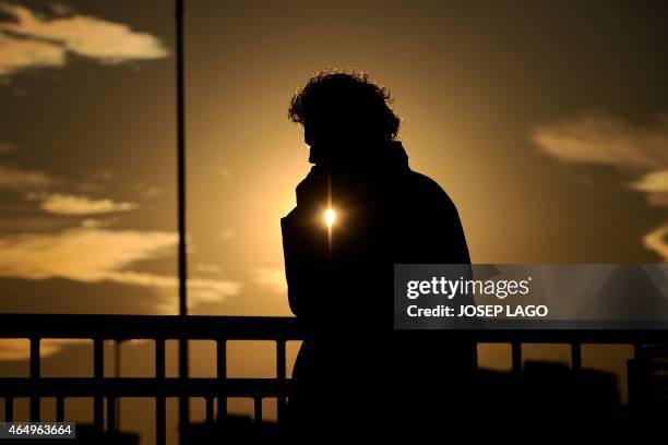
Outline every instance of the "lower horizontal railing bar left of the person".
[[29, 377], [0, 378], [5, 397], [215, 397], [224, 387], [226, 397], [278, 397], [290, 381], [275, 378], [153, 378], [153, 377]]

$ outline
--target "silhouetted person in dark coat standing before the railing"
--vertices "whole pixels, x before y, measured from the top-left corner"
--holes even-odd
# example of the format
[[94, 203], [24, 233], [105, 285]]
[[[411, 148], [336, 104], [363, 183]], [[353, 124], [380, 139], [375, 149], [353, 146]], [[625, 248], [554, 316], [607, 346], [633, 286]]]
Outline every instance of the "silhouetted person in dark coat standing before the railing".
[[288, 401], [296, 435], [413, 434], [475, 398], [473, 344], [392, 327], [394, 264], [469, 256], [452, 201], [410, 170], [390, 103], [356, 71], [321, 72], [290, 103], [313, 164], [281, 221], [289, 303], [307, 332]]

